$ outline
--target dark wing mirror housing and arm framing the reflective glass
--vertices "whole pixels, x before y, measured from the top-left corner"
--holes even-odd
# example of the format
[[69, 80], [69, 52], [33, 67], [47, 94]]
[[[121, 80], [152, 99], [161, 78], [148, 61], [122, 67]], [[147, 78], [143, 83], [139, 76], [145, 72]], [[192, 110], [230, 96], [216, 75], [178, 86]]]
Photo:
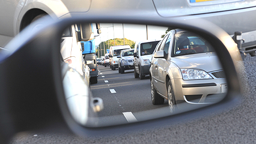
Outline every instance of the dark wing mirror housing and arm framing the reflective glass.
[[[86, 19], [85, 16], [86, 15]], [[44, 19], [45, 20], [45, 19]], [[163, 118], [148, 117], [145, 121], [120, 126], [105, 126], [97, 129], [79, 125], [68, 111], [61, 77], [60, 39], [64, 29], [73, 23], [140, 23], [148, 25], [173, 26], [204, 35], [215, 47], [220, 58], [223, 70], [226, 73], [228, 93], [221, 102], [209, 105], [203, 109], [166, 115]], [[63, 131], [75, 132], [84, 136], [105, 135], [122, 131], [136, 131], [148, 127], [164, 126], [180, 119], [191, 120], [201, 118], [202, 115], [217, 113], [239, 103], [241, 99], [238, 79], [238, 62], [242, 61], [237, 46], [230, 36], [216, 25], [205, 20], [177, 20], [152, 15], [141, 17], [125, 17], [111, 14], [84, 14], [83, 17], [74, 17], [51, 22], [41, 20], [44, 24], [39, 30], [31, 31], [25, 28], [19, 36], [6, 46], [10, 51], [4, 51], [0, 57], [0, 115], [1, 132], [7, 138], [22, 131]], [[24, 58], [26, 57], [26, 58]], [[44, 57], [44, 58], [42, 58]], [[112, 57], [110, 55], [110, 57]], [[26, 63], [24, 67], [17, 67], [17, 61]], [[39, 65], [40, 63], [40, 65]], [[54, 67], [54, 68], [53, 68]], [[29, 70], [29, 71], [28, 71]], [[41, 77], [38, 77], [41, 76]], [[46, 83], [46, 84], [45, 84]], [[13, 89], [13, 87], [17, 89]], [[30, 90], [27, 90], [27, 89]], [[23, 97], [20, 97], [22, 95]], [[36, 97], [35, 97], [36, 95]], [[42, 99], [44, 98], [44, 99]], [[47, 105], [47, 106], [45, 106]], [[8, 129], [13, 127], [13, 129]], [[1, 133], [0, 132], [0, 133]]]

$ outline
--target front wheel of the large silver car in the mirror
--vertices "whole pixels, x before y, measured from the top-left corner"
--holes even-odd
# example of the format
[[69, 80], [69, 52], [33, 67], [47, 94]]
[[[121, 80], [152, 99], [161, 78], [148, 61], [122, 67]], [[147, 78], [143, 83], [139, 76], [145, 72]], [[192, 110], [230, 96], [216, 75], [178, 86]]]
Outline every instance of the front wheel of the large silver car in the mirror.
[[170, 112], [173, 113], [174, 110], [176, 109], [176, 102], [175, 102], [175, 97], [174, 97], [174, 93], [173, 93], [173, 87], [172, 87], [172, 83], [170, 82], [170, 80], [168, 81], [168, 86], [167, 86], [167, 97], [168, 97], [168, 104], [170, 107]]

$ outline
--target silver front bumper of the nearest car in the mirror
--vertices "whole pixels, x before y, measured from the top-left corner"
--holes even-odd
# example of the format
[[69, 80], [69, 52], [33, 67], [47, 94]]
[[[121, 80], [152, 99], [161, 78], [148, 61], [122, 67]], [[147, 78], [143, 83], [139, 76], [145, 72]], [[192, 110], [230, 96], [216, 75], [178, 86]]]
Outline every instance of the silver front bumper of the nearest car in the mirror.
[[184, 81], [173, 79], [174, 95], [177, 105], [216, 103], [227, 93], [226, 79], [200, 79]]

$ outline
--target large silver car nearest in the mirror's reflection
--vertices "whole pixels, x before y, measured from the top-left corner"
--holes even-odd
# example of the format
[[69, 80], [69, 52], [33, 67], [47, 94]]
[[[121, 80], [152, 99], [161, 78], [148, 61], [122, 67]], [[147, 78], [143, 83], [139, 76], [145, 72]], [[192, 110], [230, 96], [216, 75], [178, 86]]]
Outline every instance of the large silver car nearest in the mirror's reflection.
[[170, 30], [156, 48], [150, 67], [153, 104], [164, 99], [172, 110], [180, 103], [206, 104], [226, 93], [225, 74], [214, 49], [200, 36]]

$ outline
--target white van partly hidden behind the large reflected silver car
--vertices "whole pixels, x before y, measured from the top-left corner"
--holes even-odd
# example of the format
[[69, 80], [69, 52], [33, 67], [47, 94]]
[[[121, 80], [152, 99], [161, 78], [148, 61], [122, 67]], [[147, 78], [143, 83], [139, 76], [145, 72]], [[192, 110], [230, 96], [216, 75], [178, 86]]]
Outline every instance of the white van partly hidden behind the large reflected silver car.
[[152, 54], [161, 40], [146, 40], [136, 42], [134, 49], [134, 77], [144, 79], [150, 74]]

